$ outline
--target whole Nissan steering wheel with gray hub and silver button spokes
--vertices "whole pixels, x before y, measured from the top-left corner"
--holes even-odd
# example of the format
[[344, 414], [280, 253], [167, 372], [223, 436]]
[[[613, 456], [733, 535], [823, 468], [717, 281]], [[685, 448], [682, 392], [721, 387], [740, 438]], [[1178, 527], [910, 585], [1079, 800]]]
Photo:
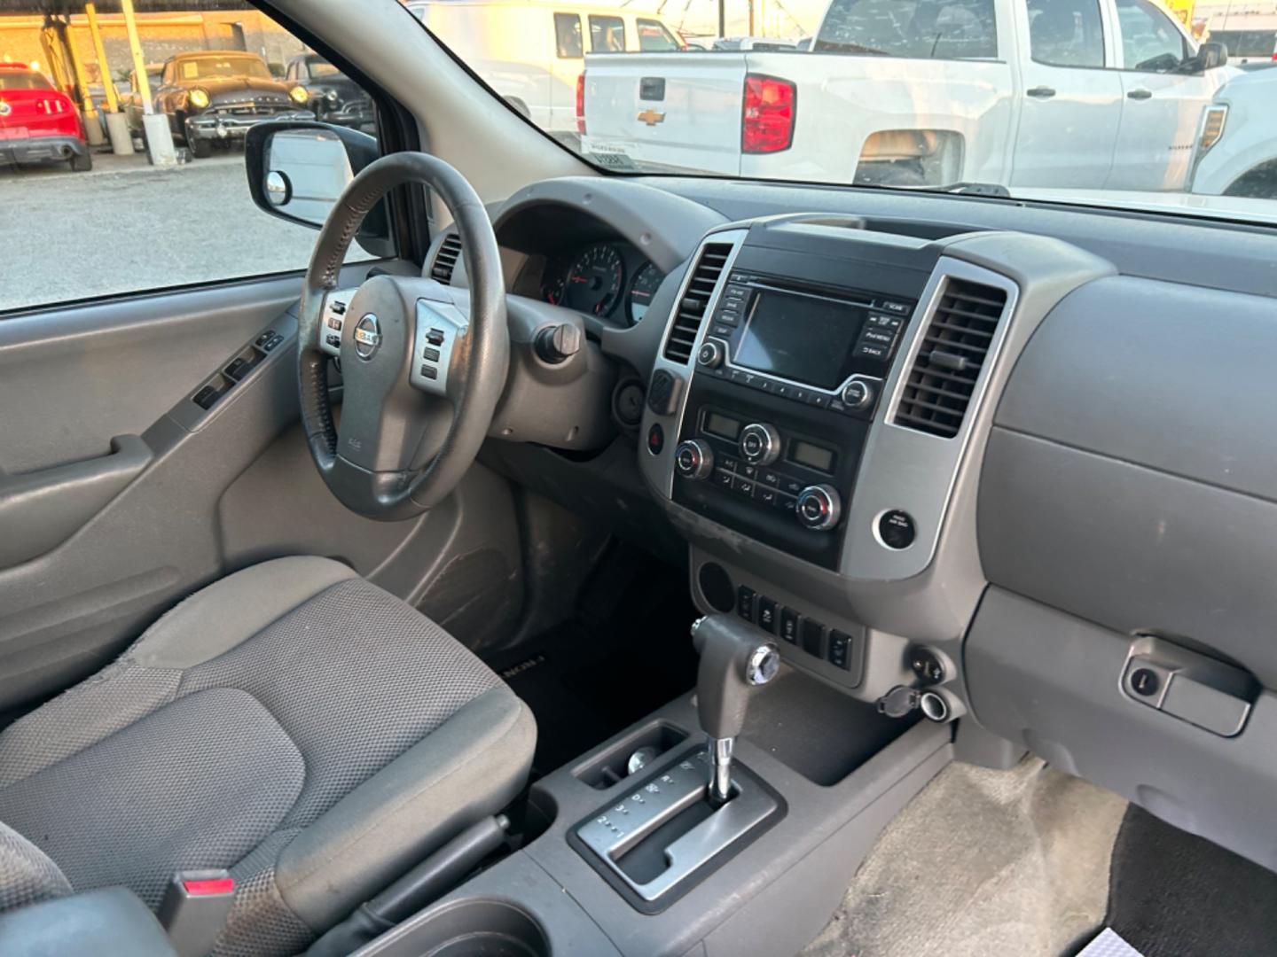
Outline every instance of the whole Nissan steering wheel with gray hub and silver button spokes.
[[[375, 276], [338, 302], [332, 293], [359, 225], [402, 184], [427, 186], [448, 207], [469, 293], [421, 277]], [[392, 153], [366, 166], [319, 231], [298, 325], [301, 422], [333, 495], [383, 521], [419, 516], [444, 499], [479, 453], [510, 369], [501, 254], [474, 188], [425, 153]], [[340, 425], [328, 402], [335, 352]]]

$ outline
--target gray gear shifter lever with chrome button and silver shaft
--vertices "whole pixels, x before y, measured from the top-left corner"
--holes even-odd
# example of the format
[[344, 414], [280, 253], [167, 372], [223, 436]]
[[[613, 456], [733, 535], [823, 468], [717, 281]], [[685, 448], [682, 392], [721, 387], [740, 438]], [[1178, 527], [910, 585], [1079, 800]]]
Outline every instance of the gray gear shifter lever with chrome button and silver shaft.
[[732, 796], [732, 750], [744, 727], [750, 695], [780, 670], [780, 649], [732, 615], [706, 615], [692, 625], [701, 656], [696, 706], [710, 739], [710, 803]]

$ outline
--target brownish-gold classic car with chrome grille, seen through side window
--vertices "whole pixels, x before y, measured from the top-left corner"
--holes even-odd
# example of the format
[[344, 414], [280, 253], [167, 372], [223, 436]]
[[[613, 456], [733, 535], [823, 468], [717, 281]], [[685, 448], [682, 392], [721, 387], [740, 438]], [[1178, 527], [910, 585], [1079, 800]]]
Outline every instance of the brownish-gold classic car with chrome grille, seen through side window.
[[266, 60], [239, 50], [170, 57], [152, 94], [156, 111], [169, 116], [174, 142], [185, 143], [197, 160], [212, 156], [217, 144], [243, 140], [262, 120], [314, 119], [304, 87], [290, 89]]

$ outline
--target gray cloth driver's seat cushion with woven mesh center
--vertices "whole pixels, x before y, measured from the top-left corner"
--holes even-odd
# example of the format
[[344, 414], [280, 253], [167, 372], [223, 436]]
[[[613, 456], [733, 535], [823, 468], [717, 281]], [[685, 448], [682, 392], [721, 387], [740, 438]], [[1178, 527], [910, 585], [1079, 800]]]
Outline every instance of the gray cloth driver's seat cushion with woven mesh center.
[[531, 712], [323, 558], [194, 593], [0, 732], [0, 906], [230, 868], [215, 953], [295, 953], [522, 789]]

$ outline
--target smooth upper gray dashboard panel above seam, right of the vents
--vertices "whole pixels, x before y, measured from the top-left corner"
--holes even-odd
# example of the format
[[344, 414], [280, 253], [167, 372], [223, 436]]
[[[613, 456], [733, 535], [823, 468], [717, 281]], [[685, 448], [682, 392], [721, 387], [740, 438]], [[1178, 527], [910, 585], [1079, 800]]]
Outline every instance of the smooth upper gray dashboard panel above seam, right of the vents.
[[1024, 350], [997, 425], [1277, 500], [1277, 309], [1114, 276]]

